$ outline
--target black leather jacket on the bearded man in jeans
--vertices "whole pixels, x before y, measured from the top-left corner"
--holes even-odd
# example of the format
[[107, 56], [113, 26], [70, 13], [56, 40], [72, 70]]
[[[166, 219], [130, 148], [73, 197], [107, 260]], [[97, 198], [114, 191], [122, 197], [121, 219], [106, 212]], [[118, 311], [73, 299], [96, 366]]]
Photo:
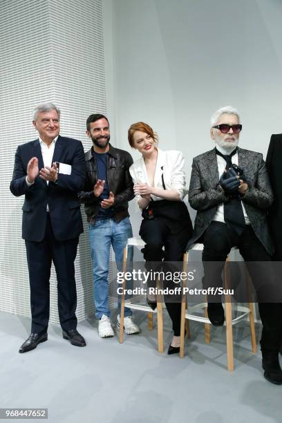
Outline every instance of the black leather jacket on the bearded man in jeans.
[[[127, 151], [115, 149], [111, 144], [109, 146], [107, 156], [109, 191], [112, 191], [115, 196], [113, 218], [120, 222], [129, 216], [128, 202], [134, 198], [133, 182], [129, 173], [129, 167], [133, 160]], [[99, 211], [100, 198], [97, 198], [93, 192], [93, 187], [97, 182], [97, 166], [92, 151], [91, 148], [85, 153], [86, 182], [84, 191], [78, 193], [78, 198], [80, 203], [84, 204], [88, 222], [94, 225]]]

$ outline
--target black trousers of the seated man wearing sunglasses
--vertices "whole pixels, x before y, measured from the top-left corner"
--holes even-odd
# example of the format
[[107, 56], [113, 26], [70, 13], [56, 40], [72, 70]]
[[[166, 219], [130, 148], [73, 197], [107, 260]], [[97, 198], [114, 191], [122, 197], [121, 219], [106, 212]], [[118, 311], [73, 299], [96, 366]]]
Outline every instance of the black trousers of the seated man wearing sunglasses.
[[[243, 234], [238, 236], [225, 223], [212, 222], [205, 231], [203, 243], [205, 271], [203, 285], [205, 288], [221, 285], [221, 273], [227, 255], [232, 247], [235, 245], [238, 247], [241, 256], [246, 261], [259, 302], [259, 313], [263, 323], [261, 348], [279, 350], [282, 337], [282, 304], [265, 302], [267, 289], [272, 290], [274, 284], [270, 283], [271, 266], [267, 267], [259, 263], [271, 262], [272, 257], [254, 234], [251, 225], [246, 225]], [[216, 263], [210, 263], [212, 261]]]

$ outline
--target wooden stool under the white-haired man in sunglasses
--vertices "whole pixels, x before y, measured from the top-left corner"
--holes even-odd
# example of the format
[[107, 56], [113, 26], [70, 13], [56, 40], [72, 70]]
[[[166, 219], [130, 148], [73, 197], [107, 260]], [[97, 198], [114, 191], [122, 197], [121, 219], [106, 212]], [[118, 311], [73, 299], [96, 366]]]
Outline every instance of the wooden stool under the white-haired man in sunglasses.
[[[188, 272], [188, 256], [191, 250], [194, 251], [203, 251], [203, 244], [194, 244], [191, 245], [189, 251], [184, 254], [183, 258], [183, 272]], [[232, 248], [231, 251], [238, 250], [237, 247]], [[225, 289], [229, 289], [230, 287], [230, 269], [229, 269], [230, 258], [227, 257], [225, 263], [225, 270], [224, 270], [224, 279], [225, 279]], [[246, 269], [246, 276], [247, 276], [247, 285], [249, 288], [249, 298], [251, 298], [250, 294], [250, 275]], [[183, 288], [186, 288], [186, 281], [182, 284]], [[194, 314], [194, 312], [204, 309], [204, 316], [198, 316]], [[246, 316], [249, 316], [250, 321], [250, 331], [251, 331], [251, 340], [252, 340], [252, 352], [256, 354], [256, 333], [254, 330], [254, 304], [249, 301], [248, 306], [238, 306], [238, 311], [241, 314], [232, 319], [232, 303], [230, 295], [225, 295], [225, 326], [226, 326], [226, 344], [227, 344], [227, 369], [234, 370], [234, 357], [233, 357], [233, 333], [232, 333], [232, 326], [238, 323], [239, 321], [245, 319]], [[207, 317], [207, 302], [196, 304], [187, 309], [187, 301], [186, 295], [182, 294], [182, 303], [181, 303], [181, 323], [180, 323], [180, 358], [184, 357], [184, 338], [185, 338], [185, 319], [200, 321], [201, 323], [205, 323], [205, 341], [210, 342], [210, 324]]]

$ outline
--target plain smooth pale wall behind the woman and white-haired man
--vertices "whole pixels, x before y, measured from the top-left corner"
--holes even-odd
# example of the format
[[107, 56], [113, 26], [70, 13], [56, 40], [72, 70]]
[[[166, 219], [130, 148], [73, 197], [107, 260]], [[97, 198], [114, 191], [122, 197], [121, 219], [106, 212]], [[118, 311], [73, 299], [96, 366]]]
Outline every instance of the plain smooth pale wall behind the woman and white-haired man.
[[[106, 45], [112, 85], [106, 78], [106, 88], [118, 147], [130, 150], [130, 124], [148, 122], [160, 148], [185, 153], [189, 184], [192, 158], [214, 147], [210, 116], [232, 104], [241, 112], [241, 147], [266, 154], [270, 135], [282, 131], [282, 1], [104, 4], [112, 6], [112, 19], [104, 17], [105, 32], [112, 32]], [[136, 213], [131, 205], [135, 233]]]

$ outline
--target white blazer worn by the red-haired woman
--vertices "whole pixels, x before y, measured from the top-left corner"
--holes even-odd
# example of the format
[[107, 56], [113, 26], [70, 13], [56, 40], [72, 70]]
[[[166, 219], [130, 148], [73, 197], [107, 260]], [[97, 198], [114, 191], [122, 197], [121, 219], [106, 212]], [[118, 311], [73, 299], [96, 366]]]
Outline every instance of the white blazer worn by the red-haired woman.
[[[147, 177], [147, 170], [143, 156], [139, 160], [136, 160], [136, 162], [131, 164], [129, 172], [131, 174], [131, 178], [134, 184], [147, 183], [151, 187], [151, 184]], [[183, 200], [183, 198], [187, 194], [187, 190], [185, 189], [186, 182], [184, 171], [184, 157], [181, 151], [162, 151], [158, 149], [156, 171], [153, 180], [154, 187], [163, 189], [162, 176], [166, 189], [176, 189], [176, 191], [179, 192], [180, 199]], [[135, 198], [139, 200], [141, 196], [138, 195], [135, 196]], [[153, 198], [153, 200], [155, 201], [163, 199], [153, 195], [151, 195], [151, 198]]]

